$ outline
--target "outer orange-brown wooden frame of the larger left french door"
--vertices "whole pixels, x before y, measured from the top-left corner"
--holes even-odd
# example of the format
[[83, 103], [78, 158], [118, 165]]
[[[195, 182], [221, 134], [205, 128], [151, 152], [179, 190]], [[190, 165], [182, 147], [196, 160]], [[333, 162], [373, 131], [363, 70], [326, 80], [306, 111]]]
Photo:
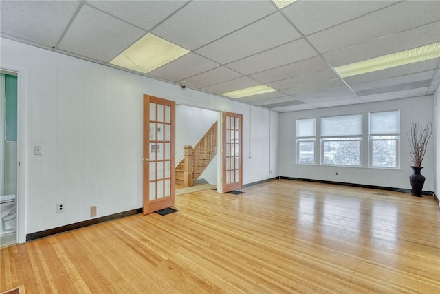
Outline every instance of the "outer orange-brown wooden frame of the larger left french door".
[[[170, 106], [170, 196], [157, 200], [150, 200], [150, 102], [157, 104], [166, 103]], [[142, 158], [143, 171], [143, 209], [142, 213], [148, 214], [159, 209], [172, 207], [175, 205], [175, 101], [166, 100], [155, 96], [144, 94], [144, 147]], [[164, 150], [165, 152], [165, 147]], [[157, 174], [157, 169], [156, 169]], [[157, 178], [157, 176], [156, 176]]]

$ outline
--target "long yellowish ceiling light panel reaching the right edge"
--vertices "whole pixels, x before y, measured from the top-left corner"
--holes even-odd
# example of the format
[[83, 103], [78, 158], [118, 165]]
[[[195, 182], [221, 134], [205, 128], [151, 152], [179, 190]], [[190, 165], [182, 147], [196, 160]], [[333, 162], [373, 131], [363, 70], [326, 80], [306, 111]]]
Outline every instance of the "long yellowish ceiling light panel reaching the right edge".
[[335, 67], [342, 78], [440, 57], [440, 42]]

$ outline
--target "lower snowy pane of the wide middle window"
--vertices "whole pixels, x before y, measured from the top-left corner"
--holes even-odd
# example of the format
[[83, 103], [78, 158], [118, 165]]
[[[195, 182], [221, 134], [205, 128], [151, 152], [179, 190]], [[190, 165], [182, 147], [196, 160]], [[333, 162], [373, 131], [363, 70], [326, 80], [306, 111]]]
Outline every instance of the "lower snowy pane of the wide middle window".
[[360, 165], [360, 140], [325, 140], [325, 165]]

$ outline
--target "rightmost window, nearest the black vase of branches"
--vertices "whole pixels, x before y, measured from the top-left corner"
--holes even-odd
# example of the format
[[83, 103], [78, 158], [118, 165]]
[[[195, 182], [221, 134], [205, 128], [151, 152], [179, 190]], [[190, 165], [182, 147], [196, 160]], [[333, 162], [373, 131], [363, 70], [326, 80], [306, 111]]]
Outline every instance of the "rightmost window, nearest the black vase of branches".
[[370, 113], [371, 167], [398, 166], [399, 111]]

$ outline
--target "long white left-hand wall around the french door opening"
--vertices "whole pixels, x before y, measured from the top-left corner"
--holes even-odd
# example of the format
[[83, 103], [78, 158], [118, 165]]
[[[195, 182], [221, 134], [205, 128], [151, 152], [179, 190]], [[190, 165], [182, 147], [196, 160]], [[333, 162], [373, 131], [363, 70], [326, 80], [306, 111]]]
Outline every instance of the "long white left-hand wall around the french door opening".
[[[243, 157], [249, 156], [249, 105], [0, 41], [1, 67], [19, 72], [19, 242], [27, 233], [89, 220], [92, 205], [98, 217], [142, 207], [143, 94], [243, 114]], [[273, 131], [277, 115], [272, 116]], [[252, 123], [268, 137], [269, 125]], [[252, 143], [252, 159], [243, 162], [243, 184], [269, 178], [270, 158], [278, 161], [276, 136], [271, 138], [272, 156], [266, 142]], [[34, 145], [43, 146], [43, 155], [34, 155]], [[260, 166], [264, 170], [255, 168]], [[273, 170], [278, 174], [276, 166]], [[64, 213], [56, 213], [57, 202], [65, 202]]]

